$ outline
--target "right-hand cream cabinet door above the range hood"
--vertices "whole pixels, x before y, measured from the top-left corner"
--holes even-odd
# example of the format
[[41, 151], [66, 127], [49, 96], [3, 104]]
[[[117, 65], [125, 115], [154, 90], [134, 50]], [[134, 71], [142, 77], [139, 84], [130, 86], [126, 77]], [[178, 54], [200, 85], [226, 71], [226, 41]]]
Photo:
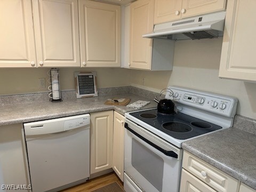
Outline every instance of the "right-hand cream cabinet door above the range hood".
[[182, 1], [182, 18], [226, 9], [226, 0], [186, 0]]

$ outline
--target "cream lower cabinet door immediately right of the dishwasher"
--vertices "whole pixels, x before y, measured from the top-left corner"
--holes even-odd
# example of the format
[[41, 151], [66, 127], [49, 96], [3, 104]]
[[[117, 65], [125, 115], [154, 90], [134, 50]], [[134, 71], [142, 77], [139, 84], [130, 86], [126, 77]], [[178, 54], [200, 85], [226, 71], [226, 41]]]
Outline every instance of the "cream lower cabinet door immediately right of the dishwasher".
[[112, 167], [113, 111], [91, 113], [90, 173]]

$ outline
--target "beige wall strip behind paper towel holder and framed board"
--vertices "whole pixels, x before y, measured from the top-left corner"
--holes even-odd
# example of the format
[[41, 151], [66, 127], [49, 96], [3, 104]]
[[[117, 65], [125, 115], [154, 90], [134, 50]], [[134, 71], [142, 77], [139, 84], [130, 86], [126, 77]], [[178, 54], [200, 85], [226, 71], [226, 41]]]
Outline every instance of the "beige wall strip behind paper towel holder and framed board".
[[[47, 92], [47, 71], [50, 68], [10, 68], [0, 69], [0, 95]], [[75, 71], [96, 71], [98, 87], [115, 87], [130, 85], [129, 69], [121, 68], [60, 68], [61, 90], [75, 89]], [[45, 78], [46, 87], [38, 87], [38, 78]]]

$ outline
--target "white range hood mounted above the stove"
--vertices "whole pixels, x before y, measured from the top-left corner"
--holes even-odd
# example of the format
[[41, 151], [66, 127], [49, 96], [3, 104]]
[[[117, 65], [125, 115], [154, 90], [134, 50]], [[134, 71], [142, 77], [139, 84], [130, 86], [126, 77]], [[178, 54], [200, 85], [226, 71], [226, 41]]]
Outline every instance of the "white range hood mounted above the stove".
[[201, 39], [223, 36], [226, 11], [199, 15], [178, 21], [160, 23], [154, 26], [146, 38]]

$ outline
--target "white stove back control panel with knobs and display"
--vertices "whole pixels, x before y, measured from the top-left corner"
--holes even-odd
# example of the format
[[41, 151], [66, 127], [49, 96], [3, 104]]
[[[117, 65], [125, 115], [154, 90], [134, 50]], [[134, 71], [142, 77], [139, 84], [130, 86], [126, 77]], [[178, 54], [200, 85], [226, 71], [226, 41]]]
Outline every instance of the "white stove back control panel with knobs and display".
[[188, 106], [210, 113], [226, 117], [234, 117], [236, 114], [237, 99], [226, 95], [210, 92], [185, 89], [183, 87], [169, 87], [174, 93], [166, 95], [166, 99], [172, 99], [177, 106]]

